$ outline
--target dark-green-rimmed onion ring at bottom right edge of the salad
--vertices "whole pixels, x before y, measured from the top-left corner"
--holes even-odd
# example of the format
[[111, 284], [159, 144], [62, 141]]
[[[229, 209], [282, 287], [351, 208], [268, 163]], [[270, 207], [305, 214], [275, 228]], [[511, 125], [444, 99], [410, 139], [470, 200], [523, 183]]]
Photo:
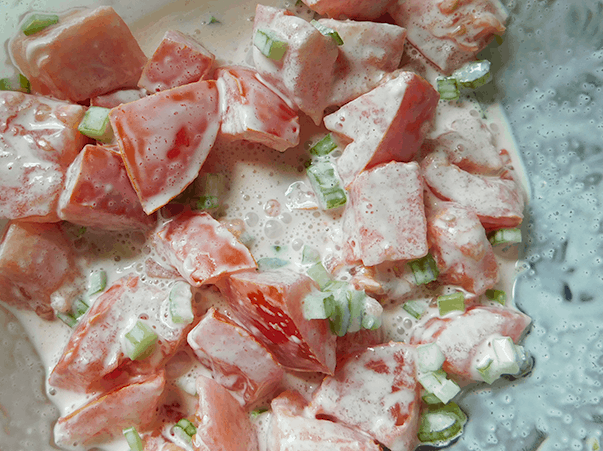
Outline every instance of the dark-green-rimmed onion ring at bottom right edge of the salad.
[[466, 422], [467, 416], [453, 402], [444, 406], [429, 406], [421, 415], [417, 436], [422, 443], [444, 445], [461, 434]]

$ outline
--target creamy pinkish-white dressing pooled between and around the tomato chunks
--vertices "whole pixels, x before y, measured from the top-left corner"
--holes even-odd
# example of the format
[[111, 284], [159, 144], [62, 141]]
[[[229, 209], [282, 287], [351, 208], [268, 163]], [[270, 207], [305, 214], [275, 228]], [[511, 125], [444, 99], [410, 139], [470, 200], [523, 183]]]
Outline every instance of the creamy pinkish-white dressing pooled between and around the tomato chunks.
[[[195, 11], [187, 13], [185, 17], [184, 13], [171, 12], [190, 8], [185, 5], [185, 2], [176, 2], [171, 4], [169, 11], [159, 9], [154, 15], [130, 22], [147, 55], [152, 53], [166, 29], [176, 28], [190, 33], [207, 46], [216, 54], [219, 63], [244, 63], [246, 60], [248, 61], [247, 54], [250, 49], [254, 8], [250, 4], [239, 5], [236, 1], [232, 3], [236, 4], [237, 8], [231, 7], [230, 2], [226, 1], [219, 6], [212, 5], [215, 11], [212, 9], [208, 12], [207, 9], [200, 7], [193, 8]], [[119, 8], [117, 9], [119, 12]], [[197, 16], [194, 16], [195, 12]], [[222, 23], [209, 25], [209, 18], [212, 15], [215, 15]], [[433, 79], [433, 74], [430, 74], [430, 78]], [[504, 119], [504, 114], [498, 106], [489, 106], [482, 112], [477, 104], [471, 102], [459, 102], [455, 105], [440, 103], [431, 135], [435, 137], [449, 129], [452, 121], [458, 118], [459, 109], [465, 115], [479, 116], [483, 114], [487, 118], [485, 123], [495, 136], [496, 147], [509, 151], [515, 172], [527, 191], [525, 172], [521, 167], [513, 139], [508, 132], [509, 127]], [[308, 118], [303, 117], [301, 121], [302, 136], [298, 148], [279, 154], [276, 151], [249, 143], [218, 141], [203, 166], [203, 171], [227, 174], [229, 187], [223, 200], [226, 205], [222, 212], [223, 219], [231, 222], [240, 221], [244, 224], [246, 232], [253, 237], [250, 248], [256, 259], [279, 257], [290, 260], [292, 267], [297, 266], [301, 262], [303, 246], [307, 245], [320, 249], [325, 265], [328, 266], [328, 262], [338, 260], [341, 253], [341, 232], [339, 230], [341, 212], [292, 208], [299, 203], [292, 203], [290, 196], [287, 196], [291, 186], [295, 184], [299, 186], [304, 183], [305, 149], [309, 147], [310, 142], [315, 142], [324, 134], [324, 129], [314, 127]], [[311, 203], [304, 204], [304, 207], [308, 206], [311, 206]], [[153, 255], [150, 255], [150, 247], [140, 233], [105, 235], [89, 230], [83, 238], [74, 241], [81, 264], [90, 271], [98, 269], [107, 271], [109, 284], [129, 273], [138, 274], [142, 280], [162, 288], [167, 288], [170, 283], [167, 280], [151, 280], [145, 276], [144, 261]], [[280, 249], [275, 249], [275, 246]], [[516, 248], [497, 250], [497, 258], [501, 275], [497, 288], [504, 289], [510, 295], [514, 278], [517, 271], [521, 269], [515, 265], [517, 250]], [[345, 280], [350, 275], [343, 270], [339, 273], [339, 277]], [[406, 273], [399, 281], [390, 278], [388, 291], [399, 292], [401, 294], [399, 298], [402, 295], [408, 295], [410, 285], [407, 280], [409, 277], [409, 274]], [[445, 289], [443, 290], [445, 291]], [[219, 296], [212, 293], [204, 292], [200, 296], [203, 298], [204, 307], [220, 305], [223, 302]], [[426, 294], [425, 297], [430, 298], [431, 295]], [[69, 338], [70, 329], [59, 321], [52, 323], [43, 321], [32, 312], [15, 311], [14, 313], [26, 327], [28, 336], [35, 345], [44, 368], [49, 374]], [[434, 314], [434, 312], [429, 314]], [[385, 335], [390, 339], [405, 340], [415, 322], [414, 318], [411, 318], [399, 307], [386, 308], [384, 312]], [[200, 365], [194, 365], [184, 375], [172, 378], [170, 383], [190, 390], [191, 381], [199, 373], [208, 374], [207, 370]], [[369, 384], [377, 383], [367, 382]], [[295, 374], [289, 374], [285, 382], [285, 386], [296, 388], [306, 396], [317, 385], [316, 380], [310, 378], [308, 381], [305, 377]], [[46, 390], [50, 399], [59, 408], [61, 415], [82, 405], [88, 399], [87, 395], [78, 395], [50, 386], [47, 386]], [[400, 396], [402, 395], [403, 393], [400, 394]], [[350, 400], [350, 403], [353, 403], [353, 400]], [[353, 408], [362, 409], [362, 405]], [[353, 408], [350, 404], [350, 410]], [[264, 419], [262, 423], [268, 422]], [[122, 440], [105, 444], [101, 448], [116, 451], [126, 449]]]

